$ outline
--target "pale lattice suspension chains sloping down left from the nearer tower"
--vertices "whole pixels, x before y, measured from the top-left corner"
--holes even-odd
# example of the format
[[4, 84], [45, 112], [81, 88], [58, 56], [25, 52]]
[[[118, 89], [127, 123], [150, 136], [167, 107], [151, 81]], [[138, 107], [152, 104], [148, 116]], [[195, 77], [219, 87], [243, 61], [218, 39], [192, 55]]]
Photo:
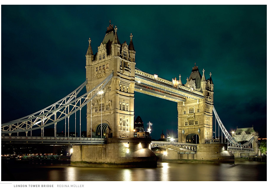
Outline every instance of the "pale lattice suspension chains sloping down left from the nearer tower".
[[[2, 124], [1, 134], [26, 132], [30, 130], [40, 129], [44, 128], [45, 126], [56, 124], [65, 118], [69, 118], [70, 115], [78, 110], [81, 110], [82, 107], [86, 106], [89, 101], [97, 96], [98, 91], [105, 87], [106, 84], [112, 79], [112, 77], [113, 72], [98, 86], [80, 96], [79, 98], [76, 98], [78, 91], [73, 91], [70, 95], [61, 99], [59, 102], [54, 103], [53, 105], [41, 111], [38, 111], [37, 113], [15, 121], [11, 121], [9, 123]], [[83, 83], [82, 85], [85, 86], [85, 84], [86, 83]], [[79, 88], [76, 90], [81, 91], [81, 89], [84, 87], [82, 85], [79, 86]]]

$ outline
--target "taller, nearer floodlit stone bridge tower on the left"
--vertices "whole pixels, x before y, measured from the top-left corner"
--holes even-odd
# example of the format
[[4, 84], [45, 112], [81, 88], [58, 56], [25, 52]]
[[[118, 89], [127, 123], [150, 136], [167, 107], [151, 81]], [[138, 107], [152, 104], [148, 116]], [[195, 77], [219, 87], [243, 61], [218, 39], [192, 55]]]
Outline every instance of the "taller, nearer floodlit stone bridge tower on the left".
[[129, 44], [126, 41], [120, 44], [117, 26], [114, 28], [110, 20], [96, 54], [93, 54], [89, 38], [89, 47], [86, 52], [87, 91], [101, 83], [112, 72], [114, 76], [103, 88], [104, 93], [98, 94], [92, 100], [92, 104], [91, 102], [87, 104], [88, 137], [102, 135], [108, 138], [108, 134], [113, 138], [133, 137], [136, 63], [132, 37], [133, 35], [130, 34]]

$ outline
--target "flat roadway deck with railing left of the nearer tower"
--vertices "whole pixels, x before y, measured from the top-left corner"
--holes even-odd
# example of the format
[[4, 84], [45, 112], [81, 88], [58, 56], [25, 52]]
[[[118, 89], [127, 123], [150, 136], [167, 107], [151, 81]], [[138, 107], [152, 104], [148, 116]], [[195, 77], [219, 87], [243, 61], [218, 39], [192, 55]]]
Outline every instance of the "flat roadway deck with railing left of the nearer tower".
[[53, 145], [104, 144], [105, 138], [87, 137], [36, 137], [36, 136], [1, 136], [1, 143], [35, 143]]

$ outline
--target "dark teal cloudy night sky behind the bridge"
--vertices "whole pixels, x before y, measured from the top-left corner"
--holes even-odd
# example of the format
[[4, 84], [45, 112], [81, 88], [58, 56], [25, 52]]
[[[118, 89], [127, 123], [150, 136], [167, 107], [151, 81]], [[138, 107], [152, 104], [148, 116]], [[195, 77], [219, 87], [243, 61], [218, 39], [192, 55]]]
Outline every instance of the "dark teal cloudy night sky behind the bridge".
[[[1, 123], [39, 111], [85, 81], [107, 26], [136, 50], [136, 67], [170, 80], [196, 62], [212, 73], [214, 106], [232, 131], [254, 126], [267, 135], [267, 6], [1, 6]], [[177, 103], [135, 92], [152, 137], [177, 137]], [[86, 111], [82, 116], [86, 130]], [[54, 127], [54, 126], [53, 126]], [[215, 122], [213, 122], [215, 127]], [[74, 128], [73, 128], [74, 130]], [[218, 132], [218, 124], [217, 124]], [[218, 135], [218, 133], [217, 133]]]

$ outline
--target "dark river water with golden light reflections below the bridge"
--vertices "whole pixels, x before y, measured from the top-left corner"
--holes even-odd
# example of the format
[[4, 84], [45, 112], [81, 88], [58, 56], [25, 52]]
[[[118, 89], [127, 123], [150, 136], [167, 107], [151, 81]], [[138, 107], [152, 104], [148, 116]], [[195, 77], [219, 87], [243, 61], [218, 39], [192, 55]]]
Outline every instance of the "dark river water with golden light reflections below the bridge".
[[1, 160], [1, 181], [267, 181], [267, 163], [157, 163], [157, 168], [70, 166], [70, 161]]

